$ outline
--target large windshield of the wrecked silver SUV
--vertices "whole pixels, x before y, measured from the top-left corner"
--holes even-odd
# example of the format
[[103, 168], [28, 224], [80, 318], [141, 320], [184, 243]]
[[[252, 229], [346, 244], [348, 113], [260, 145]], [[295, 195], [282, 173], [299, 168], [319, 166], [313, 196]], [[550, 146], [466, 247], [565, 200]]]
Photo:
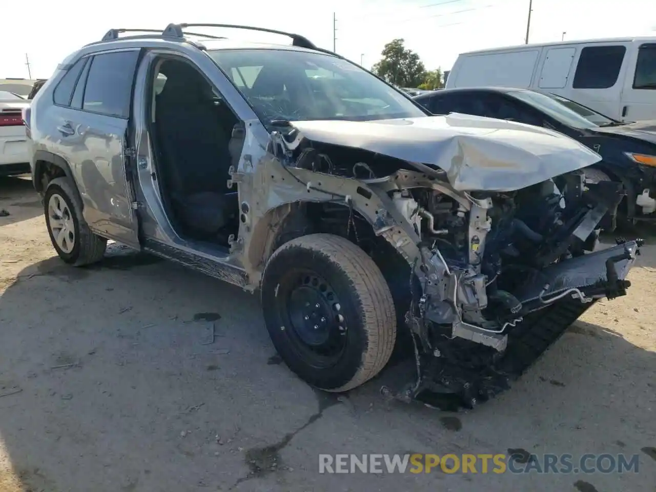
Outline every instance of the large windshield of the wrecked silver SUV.
[[273, 49], [208, 51], [268, 125], [425, 116], [411, 100], [358, 66], [328, 54]]

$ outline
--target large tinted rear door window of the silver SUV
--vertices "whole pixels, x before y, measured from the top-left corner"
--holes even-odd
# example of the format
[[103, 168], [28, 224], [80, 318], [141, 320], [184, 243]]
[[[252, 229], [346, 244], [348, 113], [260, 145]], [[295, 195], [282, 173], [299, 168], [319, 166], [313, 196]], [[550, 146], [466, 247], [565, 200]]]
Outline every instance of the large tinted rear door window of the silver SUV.
[[85, 111], [127, 118], [138, 51], [97, 54], [84, 91]]

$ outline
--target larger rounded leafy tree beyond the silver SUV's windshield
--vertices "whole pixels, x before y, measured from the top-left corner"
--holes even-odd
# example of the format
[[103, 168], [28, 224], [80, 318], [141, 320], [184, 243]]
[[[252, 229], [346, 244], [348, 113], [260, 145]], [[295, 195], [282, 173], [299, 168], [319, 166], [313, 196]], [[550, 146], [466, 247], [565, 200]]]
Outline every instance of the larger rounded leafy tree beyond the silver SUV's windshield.
[[403, 46], [403, 39], [387, 43], [380, 53], [382, 60], [372, 72], [397, 87], [417, 87], [424, 80], [426, 69], [419, 55]]

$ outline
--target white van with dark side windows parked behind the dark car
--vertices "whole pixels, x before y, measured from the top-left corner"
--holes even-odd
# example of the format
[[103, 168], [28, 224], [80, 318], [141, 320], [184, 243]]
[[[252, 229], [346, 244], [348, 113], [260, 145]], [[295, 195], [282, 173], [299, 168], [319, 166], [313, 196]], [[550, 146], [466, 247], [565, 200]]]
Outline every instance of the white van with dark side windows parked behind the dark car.
[[656, 37], [462, 53], [446, 88], [482, 86], [554, 92], [620, 121], [656, 119]]

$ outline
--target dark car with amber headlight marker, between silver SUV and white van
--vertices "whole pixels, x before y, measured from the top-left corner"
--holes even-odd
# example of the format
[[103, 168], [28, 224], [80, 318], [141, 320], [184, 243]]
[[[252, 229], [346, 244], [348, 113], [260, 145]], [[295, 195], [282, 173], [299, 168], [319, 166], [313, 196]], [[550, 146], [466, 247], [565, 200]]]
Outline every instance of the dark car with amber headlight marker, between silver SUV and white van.
[[506, 87], [445, 89], [415, 100], [435, 114], [511, 119], [564, 133], [602, 156], [585, 169], [588, 181], [624, 184], [623, 220], [656, 220], [656, 121], [621, 123], [550, 92]]

